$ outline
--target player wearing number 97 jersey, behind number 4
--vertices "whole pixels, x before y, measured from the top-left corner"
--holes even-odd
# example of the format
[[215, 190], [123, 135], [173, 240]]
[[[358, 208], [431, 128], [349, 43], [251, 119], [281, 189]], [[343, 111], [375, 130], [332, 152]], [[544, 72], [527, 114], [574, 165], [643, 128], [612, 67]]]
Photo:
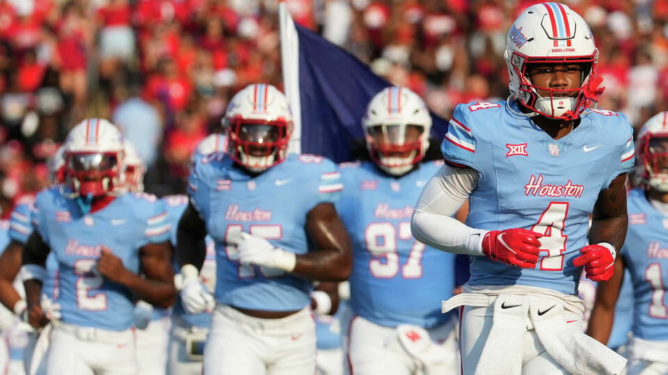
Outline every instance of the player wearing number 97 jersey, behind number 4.
[[340, 165], [337, 210], [353, 244], [353, 374], [454, 374], [456, 340], [437, 301], [452, 297], [454, 255], [411, 235], [413, 204], [443, 162], [423, 162], [431, 116], [408, 88], [376, 94], [362, 119], [372, 161]]

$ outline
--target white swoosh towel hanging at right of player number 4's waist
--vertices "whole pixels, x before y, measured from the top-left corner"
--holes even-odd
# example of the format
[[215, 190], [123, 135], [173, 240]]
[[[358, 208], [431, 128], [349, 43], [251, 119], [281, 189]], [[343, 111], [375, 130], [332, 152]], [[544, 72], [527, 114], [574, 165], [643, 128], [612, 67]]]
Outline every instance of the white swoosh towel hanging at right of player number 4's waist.
[[[530, 298], [529, 313], [541, 344], [550, 356], [574, 375], [620, 374], [626, 359], [580, 331], [566, 326], [564, 306]], [[541, 312], [541, 315], [539, 315]]]

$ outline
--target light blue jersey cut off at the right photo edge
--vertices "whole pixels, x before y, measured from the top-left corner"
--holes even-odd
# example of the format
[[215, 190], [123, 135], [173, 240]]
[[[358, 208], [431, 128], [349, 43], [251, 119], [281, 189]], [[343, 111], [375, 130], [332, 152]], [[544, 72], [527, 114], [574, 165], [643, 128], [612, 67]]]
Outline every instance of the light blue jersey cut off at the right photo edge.
[[668, 215], [653, 208], [641, 189], [630, 191], [627, 210], [621, 255], [633, 281], [633, 336], [668, 340]]

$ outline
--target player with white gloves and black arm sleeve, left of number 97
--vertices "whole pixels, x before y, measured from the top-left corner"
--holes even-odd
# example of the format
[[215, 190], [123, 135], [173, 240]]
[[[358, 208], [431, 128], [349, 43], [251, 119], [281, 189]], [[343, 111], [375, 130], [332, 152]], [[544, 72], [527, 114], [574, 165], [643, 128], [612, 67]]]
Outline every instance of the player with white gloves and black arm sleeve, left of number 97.
[[186, 311], [209, 296], [198, 276], [207, 232], [216, 247], [216, 308], [205, 374], [313, 374], [310, 280], [351, 269], [334, 202], [340, 174], [320, 156], [288, 155], [292, 113], [271, 85], [249, 85], [225, 113], [228, 153], [193, 165], [177, 234]]

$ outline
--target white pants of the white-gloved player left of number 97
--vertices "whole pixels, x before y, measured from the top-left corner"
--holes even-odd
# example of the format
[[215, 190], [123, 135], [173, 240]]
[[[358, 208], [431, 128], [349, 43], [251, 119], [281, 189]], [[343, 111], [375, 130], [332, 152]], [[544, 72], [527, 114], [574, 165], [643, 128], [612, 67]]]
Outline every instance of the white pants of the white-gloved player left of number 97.
[[306, 307], [260, 319], [218, 304], [204, 349], [205, 375], [313, 375], [315, 321]]

